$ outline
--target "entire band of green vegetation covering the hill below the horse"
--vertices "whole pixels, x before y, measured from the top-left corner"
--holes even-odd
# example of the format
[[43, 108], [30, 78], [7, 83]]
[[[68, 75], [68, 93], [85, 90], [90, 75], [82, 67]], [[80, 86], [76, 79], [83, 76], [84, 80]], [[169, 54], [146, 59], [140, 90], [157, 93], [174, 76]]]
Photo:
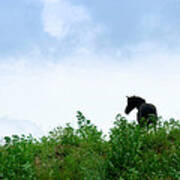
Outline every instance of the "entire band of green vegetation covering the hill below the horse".
[[0, 179], [180, 179], [179, 121], [159, 119], [147, 130], [117, 115], [107, 137], [81, 112], [77, 119], [77, 129], [67, 124], [40, 140], [5, 137]]

